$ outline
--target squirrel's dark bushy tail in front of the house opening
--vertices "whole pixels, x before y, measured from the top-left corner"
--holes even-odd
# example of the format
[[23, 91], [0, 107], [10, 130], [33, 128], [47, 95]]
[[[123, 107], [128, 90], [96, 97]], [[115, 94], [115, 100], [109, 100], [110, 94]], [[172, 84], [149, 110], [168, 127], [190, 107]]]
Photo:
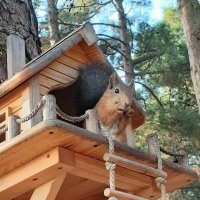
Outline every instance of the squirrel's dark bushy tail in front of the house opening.
[[84, 114], [92, 109], [108, 86], [110, 75], [114, 69], [104, 63], [95, 62], [79, 69], [77, 78], [77, 105], [78, 114]]

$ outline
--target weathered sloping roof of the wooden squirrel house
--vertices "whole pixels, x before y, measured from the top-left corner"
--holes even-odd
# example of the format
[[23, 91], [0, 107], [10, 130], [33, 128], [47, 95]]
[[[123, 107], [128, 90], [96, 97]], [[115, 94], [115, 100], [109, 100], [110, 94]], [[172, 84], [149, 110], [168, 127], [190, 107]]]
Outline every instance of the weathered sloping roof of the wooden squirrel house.
[[[99, 47], [95, 45], [97, 40], [98, 37], [95, 34], [93, 27], [89, 23], [83, 24], [71, 34], [49, 48], [46, 52], [27, 63], [24, 67], [22, 67], [20, 72], [3, 82], [0, 85], [0, 98], [17, 88], [19, 85], [23, 84], [34, 75], [40, 73], [45, 67], [64, 55], [68, 50], [72, 49], [80, 42], [87, 46], [87, 50], [85, 51], [91, 50], [91, 61], [99, 60], [101, 62], [108, 63]], [[145, 114], [137, 101], [135, 101], [134, 106], [135, 112], [132, 119], [132, 126], [133, 128], [137, 128], [145, 122]]]

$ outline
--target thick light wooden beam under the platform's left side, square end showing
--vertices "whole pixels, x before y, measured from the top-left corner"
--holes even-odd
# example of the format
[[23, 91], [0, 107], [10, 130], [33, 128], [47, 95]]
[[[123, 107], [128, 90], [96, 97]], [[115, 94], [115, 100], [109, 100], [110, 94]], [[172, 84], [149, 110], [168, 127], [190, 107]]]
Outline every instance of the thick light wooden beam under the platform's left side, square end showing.
[[22, 195], [74, 167], [74, 153], [57, 147], [0, 178], [0, 199]]

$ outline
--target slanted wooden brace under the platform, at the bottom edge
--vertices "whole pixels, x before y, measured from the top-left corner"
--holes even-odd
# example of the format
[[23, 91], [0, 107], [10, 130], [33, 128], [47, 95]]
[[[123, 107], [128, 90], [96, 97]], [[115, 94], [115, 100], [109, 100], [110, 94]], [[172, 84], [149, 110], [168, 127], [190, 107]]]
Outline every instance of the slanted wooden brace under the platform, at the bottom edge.
[[65, 176], [66, 173], [63, 173], [48, 183], [37, 187], [30, 200], [55, 200]]

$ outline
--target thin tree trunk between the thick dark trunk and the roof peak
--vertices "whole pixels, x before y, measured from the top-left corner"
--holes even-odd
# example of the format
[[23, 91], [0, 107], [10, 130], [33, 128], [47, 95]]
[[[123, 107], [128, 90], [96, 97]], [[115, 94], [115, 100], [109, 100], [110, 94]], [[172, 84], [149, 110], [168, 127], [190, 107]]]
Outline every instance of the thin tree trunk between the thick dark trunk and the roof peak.
[[48, 26], [50, 33], [51, 46], [58, 42], [61, 37], [59, 33], [58, 25], [58, 11], [57, 11], [57, 0], [47, 0], [48, 2]]

